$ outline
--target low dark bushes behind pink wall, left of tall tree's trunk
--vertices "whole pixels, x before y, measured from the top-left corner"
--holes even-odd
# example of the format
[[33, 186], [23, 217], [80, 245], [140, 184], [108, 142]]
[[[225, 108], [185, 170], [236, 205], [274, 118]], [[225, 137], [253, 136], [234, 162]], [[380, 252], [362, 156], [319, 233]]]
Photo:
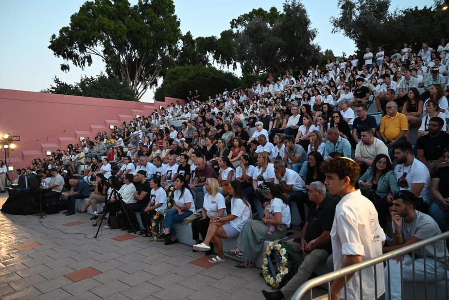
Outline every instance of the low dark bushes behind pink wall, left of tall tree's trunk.
[[73, 85], [53, 79], [54, 86], [45, 90], [47, 93], [63, 94], [84, 97], [97, 97], [107, 99], [118, 99], [127, 101], [138, 101], [136, 93], [128, 85], [122, 84], [117, 78], [108, 77], [101, 73], [96, 77], [81, 77], [80, 82]]

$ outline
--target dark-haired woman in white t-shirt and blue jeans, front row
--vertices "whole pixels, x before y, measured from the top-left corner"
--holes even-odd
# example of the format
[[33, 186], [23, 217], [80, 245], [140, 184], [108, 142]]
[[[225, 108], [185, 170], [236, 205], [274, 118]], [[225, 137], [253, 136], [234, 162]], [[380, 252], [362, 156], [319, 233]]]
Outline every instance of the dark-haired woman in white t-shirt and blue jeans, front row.
[[178, 175], [174, 181], [173, 209], [165, 212], [165, 229], [164, 237], [171, 237], [165, 245], [172, 245], [178, 242], [176, 238], [175, 223], [181, 223], [185, 218], [195, 212], [195, 203], [193, 202], [193, 194], [189, 189], [189, 182], [186, 177]]

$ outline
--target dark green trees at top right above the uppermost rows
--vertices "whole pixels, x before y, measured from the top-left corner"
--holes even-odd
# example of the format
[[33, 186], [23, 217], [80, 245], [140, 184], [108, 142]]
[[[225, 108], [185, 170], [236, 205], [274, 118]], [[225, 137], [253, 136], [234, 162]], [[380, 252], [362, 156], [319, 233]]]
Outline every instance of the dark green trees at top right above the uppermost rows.
[[[342, 32], [351, 38], [363, 56], [366, 47], [372, 52], [383, 46], [386, 53], [402, 48], [406, 42], [415, 52], [422, 42], [438, 45], [449, 34], [449, 11], [443, 10], [449, 1], [436, 1], [424, 6], [389, 12], [390, 0], [339, 0], [340, 15], [330, 18], [333, 33]], [[360, 59], [361, 57], [359, 57]]]

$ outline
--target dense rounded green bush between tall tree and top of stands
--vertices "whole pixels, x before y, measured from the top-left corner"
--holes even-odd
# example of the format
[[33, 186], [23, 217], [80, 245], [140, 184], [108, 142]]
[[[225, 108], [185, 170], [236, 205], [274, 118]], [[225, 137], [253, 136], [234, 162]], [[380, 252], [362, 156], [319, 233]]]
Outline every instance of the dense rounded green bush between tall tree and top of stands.
[[189, 90], [198, 89], [201, 100], [207, 96], [241, 86], [241, 81], [231, 72], [224, 72], [204, 65], [179, 66], [167, 72], [162, 85], [155, 91], [155, 100], [164, 101], [164, 97], [185, 99]]

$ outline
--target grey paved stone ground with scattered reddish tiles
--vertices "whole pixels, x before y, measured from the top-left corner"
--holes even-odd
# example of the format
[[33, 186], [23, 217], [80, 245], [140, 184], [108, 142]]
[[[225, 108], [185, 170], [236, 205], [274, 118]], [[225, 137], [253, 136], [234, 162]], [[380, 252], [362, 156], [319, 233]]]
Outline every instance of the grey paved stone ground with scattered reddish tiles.
[[[0, 206], [5, 200], [1, 194]], [[112, 239], [120, 229], [103, 229], [97, 239], [75, 234], [94, 236], [89, 217], [59, 213], [41, 220], [63, 233], [43, 227], [37, 216], [0, 212], [0, 299], [262, 300], [260, 290], [269, 288], [259, 269], [236, 268], [229, 259], [192, 264], [204, 254], [186, 245]]]

